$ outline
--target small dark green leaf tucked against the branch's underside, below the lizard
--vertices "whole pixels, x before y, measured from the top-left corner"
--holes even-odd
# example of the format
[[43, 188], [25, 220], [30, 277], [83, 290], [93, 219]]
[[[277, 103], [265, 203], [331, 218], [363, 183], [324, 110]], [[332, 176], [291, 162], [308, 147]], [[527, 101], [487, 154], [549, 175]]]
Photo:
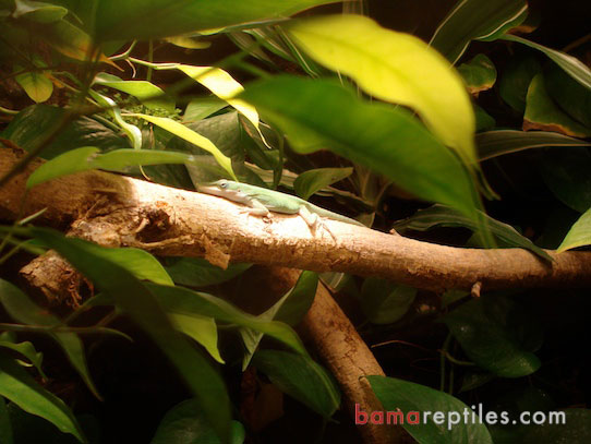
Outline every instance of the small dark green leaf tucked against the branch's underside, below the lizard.
[[189, 287], [205, 287], [233, 279], [251, 267], [251, 264], [230, 264], [221, 269], [201, 257], [167, 257], [165, 269], [172, 280]]

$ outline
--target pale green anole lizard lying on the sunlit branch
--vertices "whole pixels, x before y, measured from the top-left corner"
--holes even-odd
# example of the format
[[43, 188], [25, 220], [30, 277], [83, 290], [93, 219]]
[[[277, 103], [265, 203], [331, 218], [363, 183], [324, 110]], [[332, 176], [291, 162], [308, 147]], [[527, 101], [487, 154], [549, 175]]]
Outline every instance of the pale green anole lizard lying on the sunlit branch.
[[[245, 211], [245, 213], [255, 216], [270, 218], [270, 212], [298, 214], [302, 217], [302, 219], [305, 220], [312, 232], [315, 232], [316, 228], [322, 226], [319, 217], [365, 227], [355, 219], [351, 219], [350, 217], [341, 216], [340, 214], [321, 208], [319, 206], [311, 204], [310, 202], [294, 195], [250, 185], [248, 183], [239, 183], [231, 180], [221, 179], [212, 183], [198, 185], [197, 191], [246, 205], [249, 208]], [[330, 236], [335, 238], [328, 227], [324, 226], [324, 228], [326, 228]]]

